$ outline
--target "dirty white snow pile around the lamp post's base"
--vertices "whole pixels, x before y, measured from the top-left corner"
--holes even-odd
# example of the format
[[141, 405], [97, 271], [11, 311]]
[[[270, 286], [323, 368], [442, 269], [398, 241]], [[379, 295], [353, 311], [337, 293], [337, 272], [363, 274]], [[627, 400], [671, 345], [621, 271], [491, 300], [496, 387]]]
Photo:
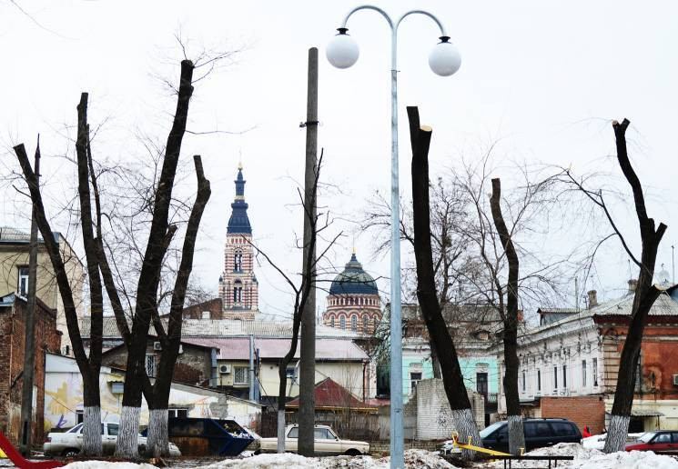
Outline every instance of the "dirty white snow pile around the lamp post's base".
[[[299, 454], [258, 454], [245, 459], [230, 459], [201, 469], [388, 469], [390, 458], [374, 459], [370, 456], [304, 457]], [[411, 469], [454, 469], [455, 466], [438, 454], [424, 450], [405, 452], [405, 467]]]

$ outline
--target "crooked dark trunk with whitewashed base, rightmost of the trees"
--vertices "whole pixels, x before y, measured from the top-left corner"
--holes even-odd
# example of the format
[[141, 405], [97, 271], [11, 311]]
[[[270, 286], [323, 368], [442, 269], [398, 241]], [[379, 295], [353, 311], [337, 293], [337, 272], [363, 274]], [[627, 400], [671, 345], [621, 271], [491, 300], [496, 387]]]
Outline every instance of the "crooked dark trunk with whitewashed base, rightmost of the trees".
[[605, 439], [605, 453], [623, 451], [626, 442], [626, 434], [628, 433], [629, 422], [631, 420], [633, 391], [635, 389], [635, 370], [638, 366], [638, 358], [641, 353], [643, 331], [650, 309], [660, 294], [659, 290], [653, 286], [654, 264], [657, 259], [659, 244], [666, 231], [666, 225], [663, 223], [660, 223], [655, 230], [653, 218], [647, 215], [643, 185], [641, 185], [638, 176], [632, 168], [626, 150], [625, 134], [629, 124], [630, 122], [627, 119], [624, 119], [621, 124], [614, 121], [612, 128], [614, 129], [617, 147], [617, 160], [622, 168], [623, 175], [632, 188], [635, 212], [638, 217], [638, 224], [640, 225], [643, 251], [640, 261], [637, 261], [632, 256], [634, 262], [640, 268], [640, 273], [638, 275], [638, 285], [635, 294], [633, 294], [631, 322], [623, 344], [622, 356], [619, 363], [619, 374], [617, 374], [617, 387], [614, 392], [610, 427]]

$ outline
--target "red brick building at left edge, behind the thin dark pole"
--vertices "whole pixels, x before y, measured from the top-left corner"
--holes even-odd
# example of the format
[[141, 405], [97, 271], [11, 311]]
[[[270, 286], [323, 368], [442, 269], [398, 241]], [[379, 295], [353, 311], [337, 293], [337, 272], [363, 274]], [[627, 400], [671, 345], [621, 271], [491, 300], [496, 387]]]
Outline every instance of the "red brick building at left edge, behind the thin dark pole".
[[[13, 443], [19, 440], [21, 392], [24, 386], [25, 314], [28, 304], [16, 294], [0, 297], [0, 431]], [[58, 354], [61, 332], [56, 310], [38, 300], [35, 308], [35, 377], [33, 442], [43, 442], [45, 418], [45, 354]]]

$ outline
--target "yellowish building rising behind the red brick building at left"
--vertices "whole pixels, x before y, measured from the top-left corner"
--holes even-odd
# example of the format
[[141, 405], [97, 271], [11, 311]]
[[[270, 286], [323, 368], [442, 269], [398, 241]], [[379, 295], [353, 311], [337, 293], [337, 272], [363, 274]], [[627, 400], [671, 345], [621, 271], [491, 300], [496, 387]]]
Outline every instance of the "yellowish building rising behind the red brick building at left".
[[[85, 270], [66, 238], [58, 232], [55, 232], [54, 236], [59, 245], [61, 258], [66, 265], [66, 275], [73, 291], [73, 300], [76, 302], [78, 322], [80, 323], [84, 314], [83, 284], [85, 283]], [[27, 233], [11, 227], [0, 227], [0, 294], [16, 293], [25, 297], [28, 293], [29, 248], [30, 236]], [[37, 284], [35, 289], [38, 298], [48, 307], [56, 309], [56, 329], [63, 334], [61, 338], [62, 353], [72, 354], [71, 341], [66, 328], [64, 304], [56, 285], [52, 263], [41, 237], [38, 238]]]

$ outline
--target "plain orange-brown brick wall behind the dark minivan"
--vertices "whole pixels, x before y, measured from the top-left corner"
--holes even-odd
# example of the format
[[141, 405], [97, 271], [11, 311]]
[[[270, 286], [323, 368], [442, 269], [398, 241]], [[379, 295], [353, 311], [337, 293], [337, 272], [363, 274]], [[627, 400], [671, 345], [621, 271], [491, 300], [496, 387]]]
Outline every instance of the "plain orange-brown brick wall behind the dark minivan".
[[541, 417], [566, 418], [582, 432], [589, 425], [592, 434], [600, 434], [605, 426], [605, 401], [601, 395], [541, 397]]

